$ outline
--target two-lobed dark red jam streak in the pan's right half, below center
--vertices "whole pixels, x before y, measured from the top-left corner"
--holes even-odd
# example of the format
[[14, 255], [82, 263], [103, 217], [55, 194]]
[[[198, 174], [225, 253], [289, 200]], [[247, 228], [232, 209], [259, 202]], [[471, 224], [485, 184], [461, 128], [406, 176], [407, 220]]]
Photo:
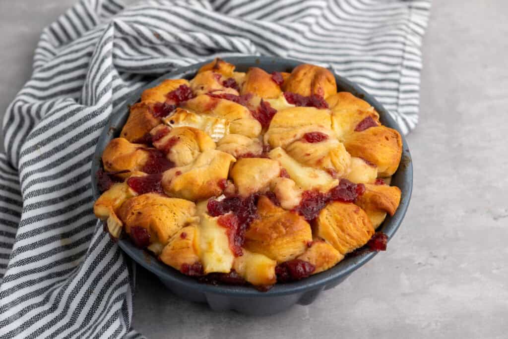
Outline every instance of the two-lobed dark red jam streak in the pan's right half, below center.
[[340, 179], [339, 184], [327, 193], [319, 191], [304, 191], [302, 200], [294, 211], [300, 214], [305, 220], [313, 220], [319, 215], [328, 202], [342, 201], [355, 202], [356, 198], [365, 192], [364, 184], [355, 184], [347, 179]]

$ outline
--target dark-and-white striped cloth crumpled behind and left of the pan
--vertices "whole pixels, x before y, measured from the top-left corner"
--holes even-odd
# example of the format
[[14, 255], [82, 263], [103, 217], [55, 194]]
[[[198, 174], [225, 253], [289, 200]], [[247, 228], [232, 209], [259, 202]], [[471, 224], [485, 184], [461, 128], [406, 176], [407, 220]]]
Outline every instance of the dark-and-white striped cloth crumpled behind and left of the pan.
[[92, 213], [108, 117], [152, 76], [215, 56], [325, 64], [404, 132], [418, 121], [430, 0], [81, 0], [47, 27], [0, 154], [0, 336], [130, 337], [133, 279]]

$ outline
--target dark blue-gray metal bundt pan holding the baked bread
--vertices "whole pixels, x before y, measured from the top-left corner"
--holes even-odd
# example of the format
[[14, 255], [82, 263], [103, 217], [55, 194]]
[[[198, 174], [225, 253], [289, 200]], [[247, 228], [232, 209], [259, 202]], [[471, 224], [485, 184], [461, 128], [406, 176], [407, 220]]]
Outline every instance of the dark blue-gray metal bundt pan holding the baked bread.
[[[245, 56], [224, 58], [226, 61], [236, 65], [236, 70], [246, 72], [248, 67], [258, 66], [268, 73], [291, 72], [294, 67], [301, 64], [301, 61], [268, 56]], [[135, 104], [141, 92], [153, 87], [164, 79], [191, 79], [199, 68], [205, 63], [202, 62], [192, 66], [182, 67], [174, 72], [168, 73], [143, 88], [140, 88], [126, 100], [122, 109], [117, 111], [104, 127], [99, 137], [95, 157], [92, 162], [91, 178], [93, 195], [97, 199], [100, 192], [97, 186], [95, 173], [100, 168], [102, 152], [109, 141], [120, 134], [120, 130], [129, 116], [129, 106]], [[379, 113], [381, 122], [391, 128], [395, 128], [402, 134], [397, 123], [390, 114], [371, 95], [366, 93], [360, 86], [335, 75], [339, 91], [351, 92], [354, 95], [366, 100]], [[392, 177], [391, 185], [395, 185], [402, 191], [400, 205], [393, 217], [388, 216], [385, 222], [378, 228], [385, 232], [389, 239], [392, 239], [399, 228], [402, 219], [409, 205], [409, 198], [412, 189], [412, 163], [407, 143], [402, 137], [403, 151], [402, 160], [397, 172]], [[357, 256], [344, 258], [334, 267], [325, 272], [310, 276], [297, 282], [276, 284], [267, 292], [260, 292], [253, 287], [229, 286], [229, 285], [208, 285], [198, 282], [196, 279], [187, 277], [170, 266], [158, 261], [149, 252], [136, 248], [129, 239], [123, 238], [118, 241], [120, 248], [138, 264], [156, 275], [162, 283], [174, 294], [196, 302], [206, 302], [211, 309], [216, 311], [235, 310], [249, 315], [271, 315], [289, 309], [294, 304], [308, 305], [315, 300], [322, 291], [331, 289], [356, 269], [360, 268], [367, 261], [372, 259], [376, 252], [366, 252]], [[388, 248], [390, 250], [390, 248]], [[379, 262], [378, 264], [383, 264]]]

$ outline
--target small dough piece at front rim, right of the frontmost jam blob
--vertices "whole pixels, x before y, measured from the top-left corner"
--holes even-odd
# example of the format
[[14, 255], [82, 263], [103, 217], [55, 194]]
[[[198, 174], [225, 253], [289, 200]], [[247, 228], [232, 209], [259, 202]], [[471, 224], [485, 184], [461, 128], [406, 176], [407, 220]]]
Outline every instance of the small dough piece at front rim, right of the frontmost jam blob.
[[337, 262], [344, 259], [344, 255], [325, 241], [314, 240], [310, 247], [297, 259], [314, 265], [315, 269], [312, 274], [316, 274], [335, 266]]

